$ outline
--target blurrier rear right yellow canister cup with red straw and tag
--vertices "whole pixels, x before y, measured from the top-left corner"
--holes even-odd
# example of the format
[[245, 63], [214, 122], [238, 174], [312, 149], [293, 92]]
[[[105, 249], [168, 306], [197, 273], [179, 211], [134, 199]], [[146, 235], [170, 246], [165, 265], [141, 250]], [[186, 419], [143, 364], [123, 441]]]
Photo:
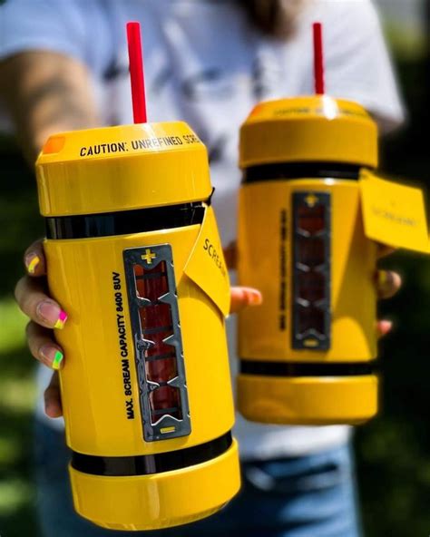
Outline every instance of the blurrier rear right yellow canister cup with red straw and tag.
[[239, 283], [263, 304], [239, 314], [238, 405], [263, 423], [376, 415], [376, 240], [428, 251], [422, 192], [376, 177], [376, 123], [324, 95], [315, 37], [317, 94], [240, 131]]

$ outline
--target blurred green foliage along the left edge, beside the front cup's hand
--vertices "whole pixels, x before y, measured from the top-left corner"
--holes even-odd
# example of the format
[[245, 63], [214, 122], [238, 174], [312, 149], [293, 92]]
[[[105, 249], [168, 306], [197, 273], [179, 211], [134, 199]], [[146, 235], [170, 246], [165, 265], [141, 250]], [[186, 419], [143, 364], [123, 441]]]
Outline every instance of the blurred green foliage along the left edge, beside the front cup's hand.
[[34, 177], [16, 148], [0, 142], [0, 533], [38, 537], [34, 505], [32, 426], [34, 360], [24, 346], [26, 320], [12, 297], [23, 250], [43, 234]]

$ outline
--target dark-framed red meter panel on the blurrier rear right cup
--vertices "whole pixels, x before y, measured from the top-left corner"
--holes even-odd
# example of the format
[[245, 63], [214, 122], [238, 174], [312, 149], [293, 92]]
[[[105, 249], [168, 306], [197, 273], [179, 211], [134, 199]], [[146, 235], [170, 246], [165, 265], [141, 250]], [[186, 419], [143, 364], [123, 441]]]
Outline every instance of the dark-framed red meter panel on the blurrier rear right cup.
[[330, 228], [330, 194], [293, 195], [293, 348], [330, 346]]

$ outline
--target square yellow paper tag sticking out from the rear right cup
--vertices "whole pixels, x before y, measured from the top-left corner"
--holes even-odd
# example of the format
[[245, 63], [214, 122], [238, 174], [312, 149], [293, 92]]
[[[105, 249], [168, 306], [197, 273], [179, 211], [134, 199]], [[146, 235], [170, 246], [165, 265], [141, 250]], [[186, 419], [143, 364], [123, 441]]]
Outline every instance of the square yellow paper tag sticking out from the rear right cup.
[[360, 177], [366, 237], [394, 248], [430, 252], [421, 189], [363, 171]]

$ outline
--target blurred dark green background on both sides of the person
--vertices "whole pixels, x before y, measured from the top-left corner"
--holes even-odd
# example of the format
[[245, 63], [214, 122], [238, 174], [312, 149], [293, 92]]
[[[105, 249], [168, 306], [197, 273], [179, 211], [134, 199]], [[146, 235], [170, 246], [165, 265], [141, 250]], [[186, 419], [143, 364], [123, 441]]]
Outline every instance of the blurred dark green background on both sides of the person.
[[[428, 68], [411, 57], [398, 68], [410, 121], [386, 142], [383, 169], [425, 183]], [[38, 537], [31, 462], [34, 360], [24, 347], [25, 319], [12, 291], [23, 272], [23, 250], [43, 234], [43, 223], [34, 178], [10, 142], [0, 141], [0, 159], [0, 534]], [[366, 537], [415, 537], [430, 533], [430, 260], [396, 254], [384, 265], [404, 275], [405, 288], [381, 306], [396, 332], [382, 345], [383, 412], [357, 430], [357, 471]]]

